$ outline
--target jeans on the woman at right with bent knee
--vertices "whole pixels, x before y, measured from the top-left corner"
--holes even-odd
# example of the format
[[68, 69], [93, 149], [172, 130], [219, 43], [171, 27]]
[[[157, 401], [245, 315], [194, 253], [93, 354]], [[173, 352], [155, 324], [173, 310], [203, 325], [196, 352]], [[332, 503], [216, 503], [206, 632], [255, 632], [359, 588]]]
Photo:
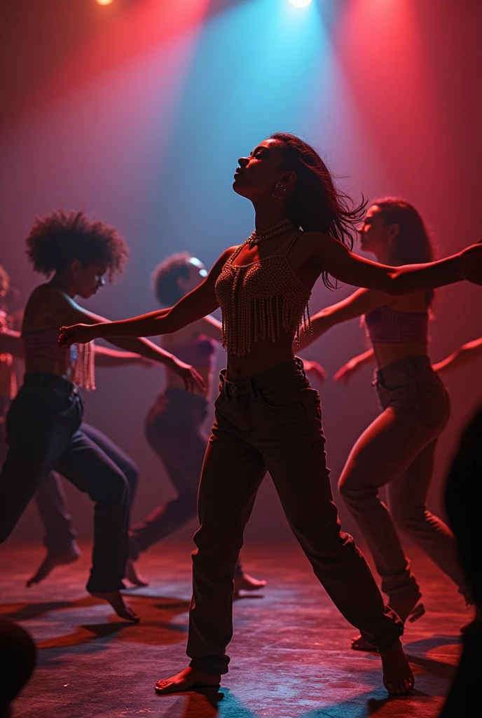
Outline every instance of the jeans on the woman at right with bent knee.
[[[427, 356], [382, 368], [374, 386], [382, 414], [351, 449], [339, 490], [367, 541], [382, 590], [389, 602], [419, 591], [400, 528], [468, 597], [453, 533], [426, 505], [437, 439], [450, 415], [448, 393]], [[378, 495], [384, 485], [389, 510]]]

